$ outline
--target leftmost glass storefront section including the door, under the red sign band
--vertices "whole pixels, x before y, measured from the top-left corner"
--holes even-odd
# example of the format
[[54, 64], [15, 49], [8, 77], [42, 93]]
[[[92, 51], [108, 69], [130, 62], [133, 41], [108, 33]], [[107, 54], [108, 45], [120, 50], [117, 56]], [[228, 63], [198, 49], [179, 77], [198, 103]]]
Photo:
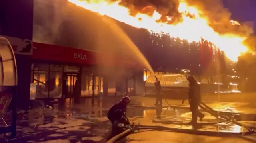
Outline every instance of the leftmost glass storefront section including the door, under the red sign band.
[[74, 97], [74, 87], [80, 84], [77, 80], [80, 77], [79, 66], [34, 63], [31, 69], [31, 84], [36, 85], [36, 98], [61, 98], [64, 94], [66, 98]]

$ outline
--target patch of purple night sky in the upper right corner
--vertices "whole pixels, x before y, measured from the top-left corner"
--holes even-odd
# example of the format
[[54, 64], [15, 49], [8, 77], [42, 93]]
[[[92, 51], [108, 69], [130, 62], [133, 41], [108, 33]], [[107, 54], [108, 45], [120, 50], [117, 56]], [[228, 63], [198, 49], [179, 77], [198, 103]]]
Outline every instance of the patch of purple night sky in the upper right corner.
[[232, 13], [233, 20], [254, 21], [256, 35], [256, 0], [223, 0], [223, 4]]

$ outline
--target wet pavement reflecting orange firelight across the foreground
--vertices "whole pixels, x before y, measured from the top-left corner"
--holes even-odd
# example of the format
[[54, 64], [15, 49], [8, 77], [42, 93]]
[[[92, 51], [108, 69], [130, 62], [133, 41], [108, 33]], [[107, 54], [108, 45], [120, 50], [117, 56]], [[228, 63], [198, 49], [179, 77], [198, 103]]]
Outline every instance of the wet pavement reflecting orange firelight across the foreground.
[[[106, 100], [102, 98], [84, 99], [81, 104], [74, 104], [72, 100], [66, 99], [62, 105], [52, 102], [47, 106], [44, 102], [36, 101], [36, 105], [26, 114], [24, 111], [18, 113], [18, 135], [16, 139], [0, 137], [0, 142], [17, 143], [105, 143], [105, 139], [110, 131], [110, 122], [106, 118], [108, 108], [118, 101], [118, 98]], [[155, 108], [153, 98], [131, 97], [132, 103], [148, 108], [129, 107], [127, 116], [131, 122], [141, 123], [142, 125], [162, 125], [178, 129], [192, 130], [190, 125], [168, 125], [159, 121], [190, 121], [191, 112], [185, 109]], [[181, 105], [180, 100], [167, 100], [169, 104]], [[212, 102], [206, 104], [214, 110], [226, 112], [246, 112], [253, 113], [254, 108], [248, 103], [239, 102]], [[168, 105], [164, 102], [163, 106]], [[186, 105], [185, 105], [186, 106]], [[151, 107], [151, 108], [150, 108]], [[203, 123], [217, 122], [210, 114], [206, 115]], [[10, 123], [10, 113], [6, 114], [6, 121]], [[254, 121], [250, 122], [252, 125]], [[200, 131], [217, 132], [241, 132], [245, 128], [235, 125], [232, 122], [218, 123], [200, 127]], [[248, 143], [256, 142], [256, 135], [244, 137], [212, 137], [203, 135], [192, 135], [176, 133], [170, 131], [139, 131], [126, 137], [122, 142], [127, 143], [155, 143], [162, 141], [172, 143]]]

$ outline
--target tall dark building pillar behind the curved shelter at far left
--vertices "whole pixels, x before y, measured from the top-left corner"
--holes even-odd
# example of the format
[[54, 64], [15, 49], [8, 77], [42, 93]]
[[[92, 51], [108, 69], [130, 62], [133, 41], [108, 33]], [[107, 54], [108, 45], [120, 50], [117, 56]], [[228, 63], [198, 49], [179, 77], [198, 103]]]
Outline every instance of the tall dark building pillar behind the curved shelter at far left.
[[27, 110], [31, 80], [33, 0], [1, 0], [0, 10], [0, 35], [10, 41], [16, 57], [17, 104]]

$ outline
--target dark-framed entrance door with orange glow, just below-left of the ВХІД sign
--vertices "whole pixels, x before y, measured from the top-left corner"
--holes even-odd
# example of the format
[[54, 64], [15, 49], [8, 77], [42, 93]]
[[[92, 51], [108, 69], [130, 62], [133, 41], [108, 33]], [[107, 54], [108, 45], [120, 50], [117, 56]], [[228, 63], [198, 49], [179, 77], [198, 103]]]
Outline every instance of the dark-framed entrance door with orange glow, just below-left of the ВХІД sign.
[[65, 98], [74, 98], [76, 80], [76, 73], [63, 74], [63, 93]]

